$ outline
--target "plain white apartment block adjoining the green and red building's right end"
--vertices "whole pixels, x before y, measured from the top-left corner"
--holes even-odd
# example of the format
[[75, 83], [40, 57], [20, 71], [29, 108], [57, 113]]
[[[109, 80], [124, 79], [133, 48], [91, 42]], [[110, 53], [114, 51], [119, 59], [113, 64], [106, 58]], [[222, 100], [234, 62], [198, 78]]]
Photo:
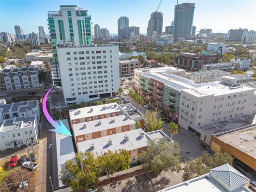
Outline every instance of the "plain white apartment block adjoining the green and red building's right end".
[[255, 113], [255, 90], [249, 86], [228, 87], [210, 83], [181, 90], [179, 125], [195, 132], [202, 141], [210, 142], [198, 127]]

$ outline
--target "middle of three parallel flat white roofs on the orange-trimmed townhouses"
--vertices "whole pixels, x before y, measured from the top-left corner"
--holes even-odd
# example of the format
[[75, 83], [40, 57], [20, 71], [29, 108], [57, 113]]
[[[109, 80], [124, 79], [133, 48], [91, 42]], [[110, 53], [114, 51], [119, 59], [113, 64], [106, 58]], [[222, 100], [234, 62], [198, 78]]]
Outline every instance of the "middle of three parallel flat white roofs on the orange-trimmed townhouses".
[[[101, 123], [99, 123], [99, 121]], [[135, 124], [135, 121], [126, 117], [125, 115], [118, 115], [114, 117], [102, 118], [94, 121], [74, 124], [73, 132], [74, 136], [77, 136], [131, 124]], [[86, 128], [83, 128], [83, 125], [86, 125]]]

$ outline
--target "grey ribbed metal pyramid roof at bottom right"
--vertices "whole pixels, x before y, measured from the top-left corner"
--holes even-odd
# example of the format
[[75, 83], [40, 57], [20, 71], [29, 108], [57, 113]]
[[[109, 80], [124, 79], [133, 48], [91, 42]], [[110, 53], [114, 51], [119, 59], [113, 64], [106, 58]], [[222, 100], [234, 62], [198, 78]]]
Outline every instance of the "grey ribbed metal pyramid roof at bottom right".
[[225, 188], [234, 189], [250, 182], [250, 179], [242, 173], [234, 169], [231, 165], [224, 164], [210, 170], [210, 174], [214, 179], [222, 182]]

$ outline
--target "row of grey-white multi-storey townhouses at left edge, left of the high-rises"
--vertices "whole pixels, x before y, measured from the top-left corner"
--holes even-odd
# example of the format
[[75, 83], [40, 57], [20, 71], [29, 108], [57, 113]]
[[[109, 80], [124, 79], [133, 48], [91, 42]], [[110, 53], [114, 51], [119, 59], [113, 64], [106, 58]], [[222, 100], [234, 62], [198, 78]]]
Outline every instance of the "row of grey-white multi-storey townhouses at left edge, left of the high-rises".
[[0, 69], [0, 91], [39, 87], [38, 69], [33, 66], [5, 66]]

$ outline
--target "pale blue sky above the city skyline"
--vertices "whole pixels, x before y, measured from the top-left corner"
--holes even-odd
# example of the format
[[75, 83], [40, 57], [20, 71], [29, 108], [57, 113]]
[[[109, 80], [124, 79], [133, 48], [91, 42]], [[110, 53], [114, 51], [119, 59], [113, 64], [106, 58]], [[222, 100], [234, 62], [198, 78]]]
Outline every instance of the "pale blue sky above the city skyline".
[[[22, 26], [24, 33], [38, 33], [38, 26], [47, 29], [47, 13], [58, 11], [59, 5], [77, 5], [92, 17], [93, 25], [108, 28], [110, 34], [117, 34], [117, 20], [129, 18], [129, 26], [139, 26], [140, 33], [146, 33], [150, 14], [160, 0], [0, 0], [0, 32], [15, 34], [14, 26]], [[228, 33], [229, 29], [247, 28], [256, 30], [256, 0], [179, 0], [179, 3], [195, 3], [193, 25], [196, 30], [211, 28], [213, 33]], [[158, 12], [164, 15], [163, 31], [174, 19], [174, 5], [177, 0], [162, 0]]]

